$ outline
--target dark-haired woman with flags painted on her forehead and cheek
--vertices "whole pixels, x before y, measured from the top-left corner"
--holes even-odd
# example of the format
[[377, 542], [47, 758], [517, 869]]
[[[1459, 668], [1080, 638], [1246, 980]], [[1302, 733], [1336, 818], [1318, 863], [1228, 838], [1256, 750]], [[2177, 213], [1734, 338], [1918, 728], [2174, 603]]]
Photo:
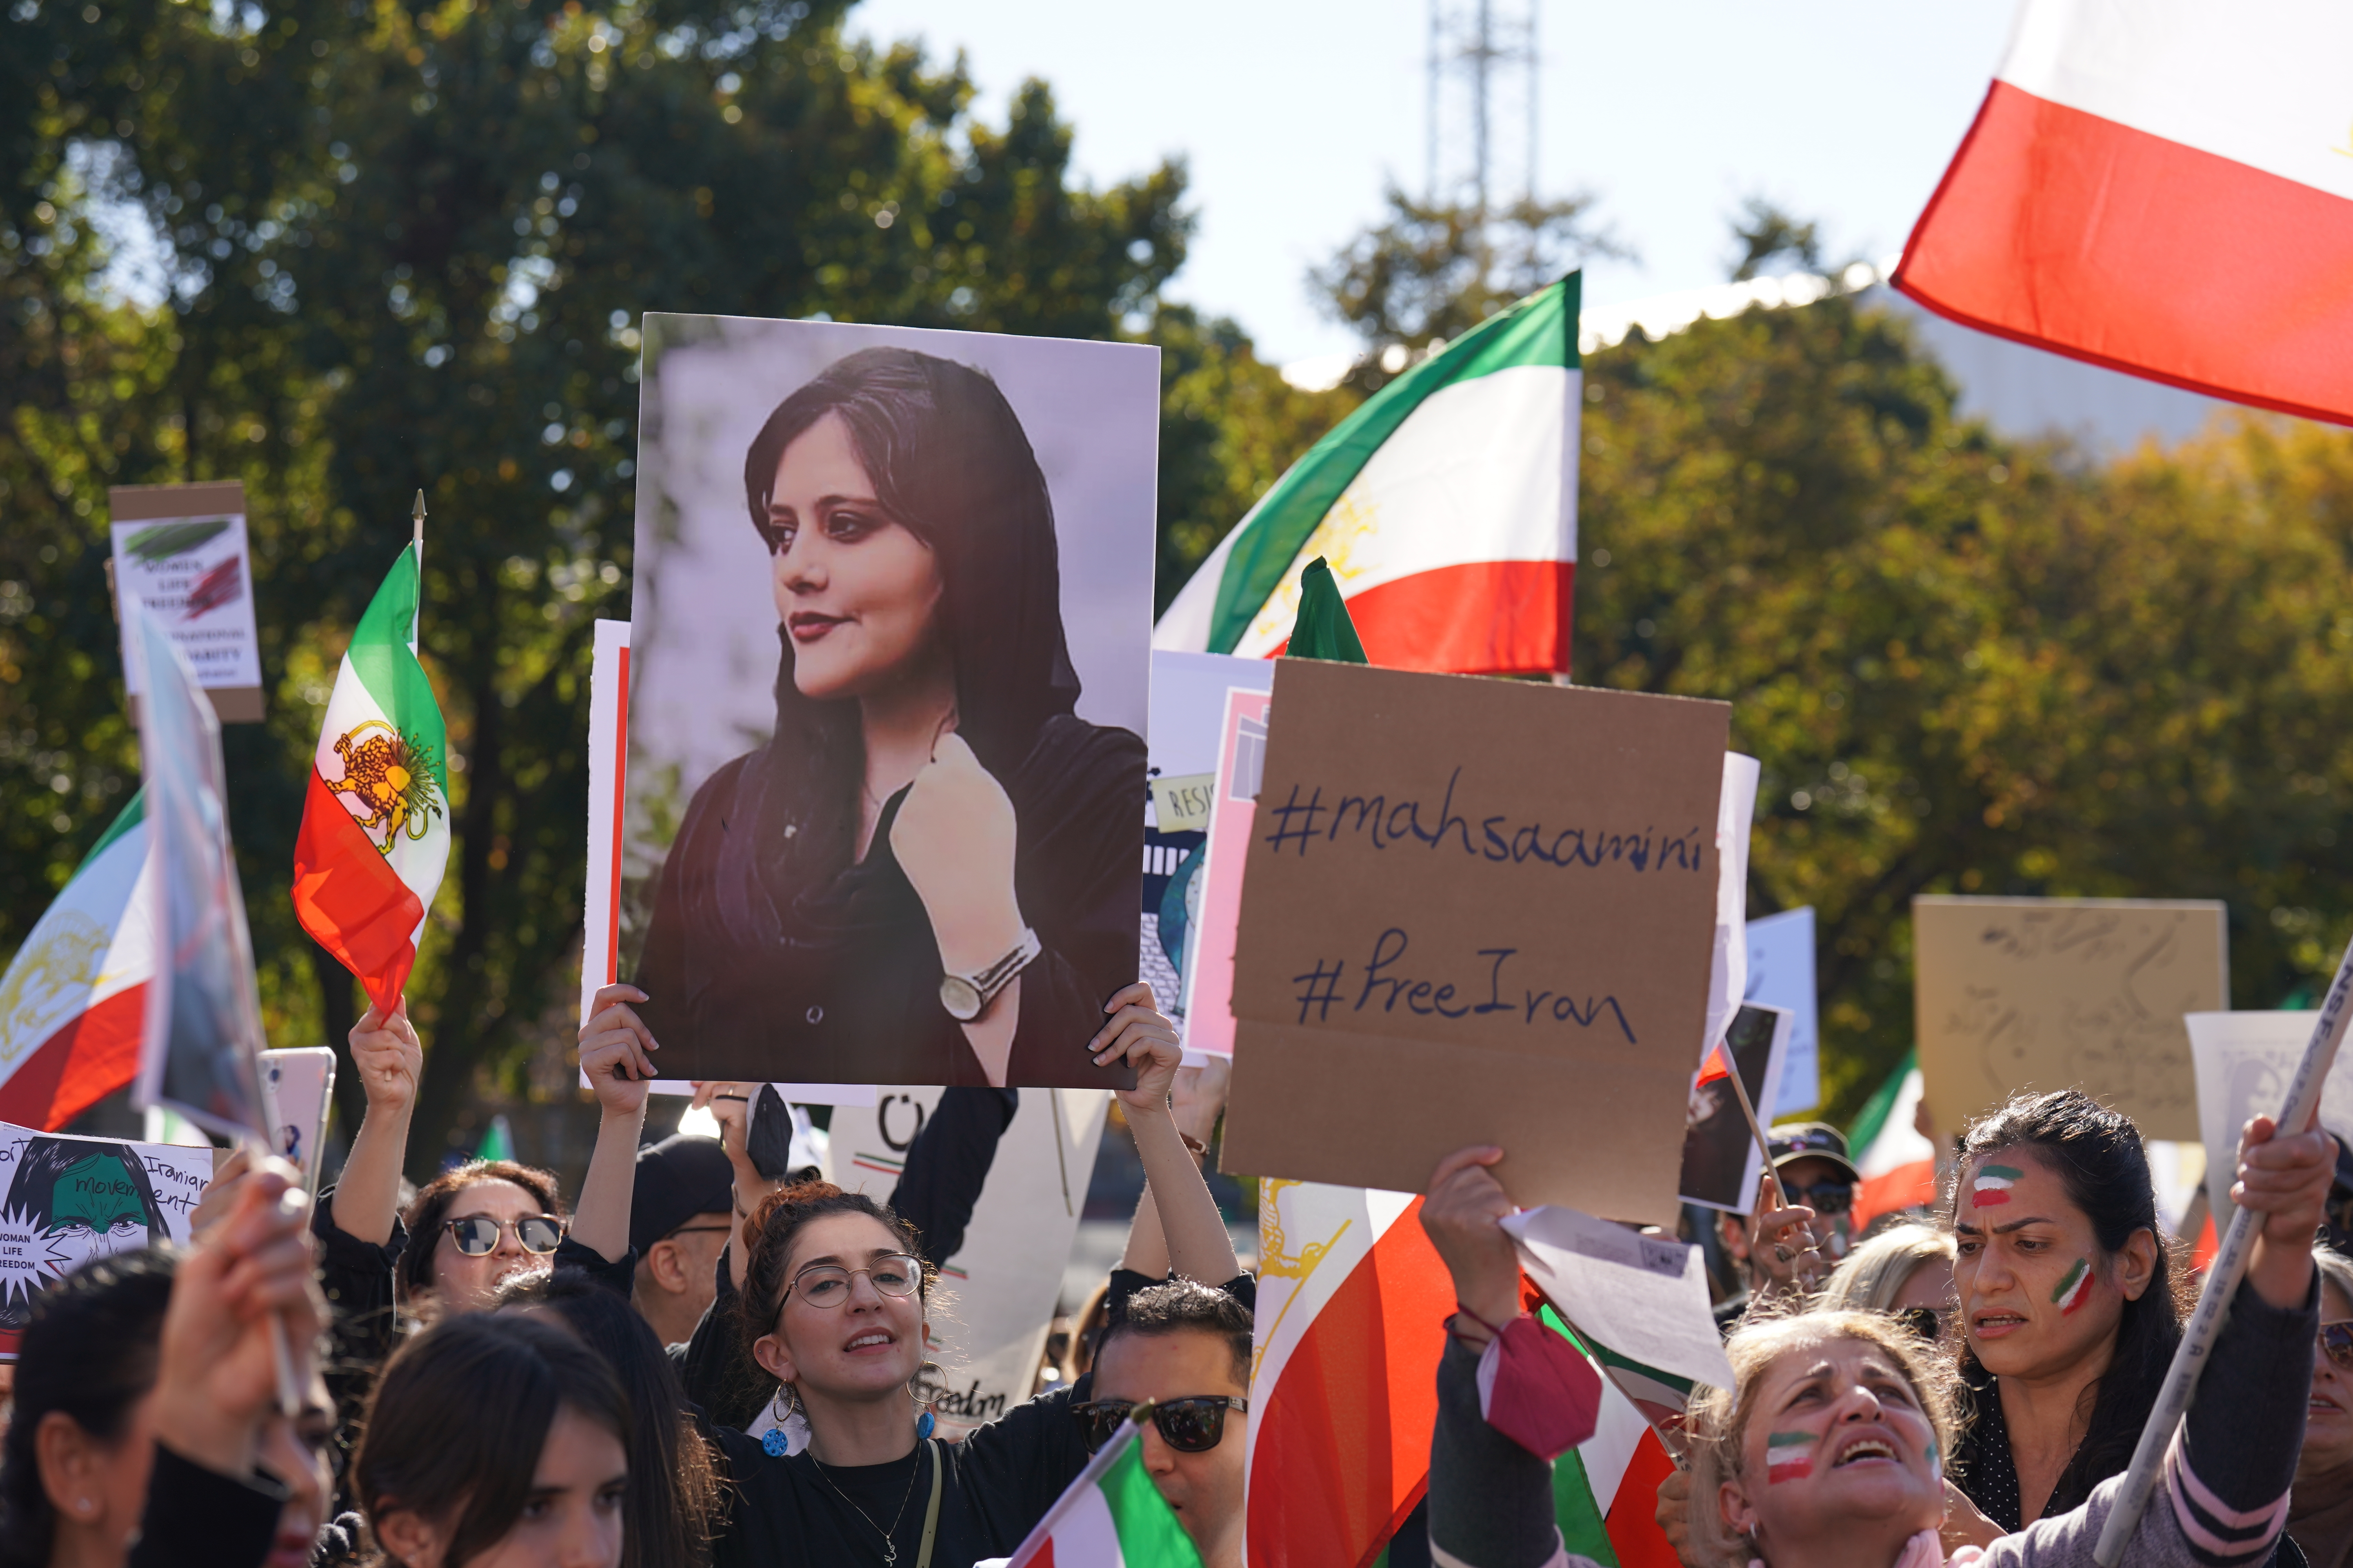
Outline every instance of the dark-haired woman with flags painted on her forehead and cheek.
[[2139, 1128], [2073, 1088], [1969, 1126], [1951, 1222], [1969, 1410], [1951, 1472], [2012, 1533], [2132, 1462], [2181, 1340], [2181, 1272]]

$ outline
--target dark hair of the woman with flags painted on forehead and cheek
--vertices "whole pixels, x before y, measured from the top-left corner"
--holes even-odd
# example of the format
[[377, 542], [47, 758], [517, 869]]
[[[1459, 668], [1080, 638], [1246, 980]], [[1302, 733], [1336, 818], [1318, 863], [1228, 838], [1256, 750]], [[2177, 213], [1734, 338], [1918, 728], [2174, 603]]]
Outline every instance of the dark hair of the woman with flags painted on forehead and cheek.
[[[2188, 1307], [2181, 1244], [2158, 1225], [2158, 1187], [2148, 1173], [2141, 1128], [2132, 1117], [2075, 1088], [2017, 1095], [1969, 1124], [1953, 1166], [1953, 1187], [1946, 1192], [1946, 1225], [1958, 1220], [1962, 1178], [1998, 1150], [2033, 1150], [2059, 1175], [2068, 1201], [2092, 1220], [2092, 1237], [2104, 1253], [2120, 1253], [2141, 1229], [2158, 1244], [2148, 1288], [2125, 1302], [2125, 1316], [2115, 1328], [2115, 1354], [2089, 1389], [2092, 1415], [2082, 1443], [2052, 1493], [2054, 1500], [2082, 1497], [2132, 1462], [2132, 1448], [2141, 1441], [2141, 1425], [2158, 1401], [2165, 1368], [2174, 1361], [2181, 1314]], [[1991, 1387], [1965, 1335], [1960, 1373], [1972, 1389]]]

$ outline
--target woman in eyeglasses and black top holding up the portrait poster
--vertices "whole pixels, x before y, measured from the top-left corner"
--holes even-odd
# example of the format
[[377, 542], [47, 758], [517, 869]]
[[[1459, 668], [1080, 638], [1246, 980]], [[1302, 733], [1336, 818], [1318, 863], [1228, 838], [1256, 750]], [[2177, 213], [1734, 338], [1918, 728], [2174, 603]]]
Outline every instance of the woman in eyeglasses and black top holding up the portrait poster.
[[[1082, 1044], [1087, 1060], [1125, 1060], [1136, 1072], [1136, 1086], [1118, 1093], [1160, 1204], [1169, 1262], [1186, 1279], [1233, 1279], [1233, 1241], [1169, 1114], [1176, 1030], [1146, 985], [1129, 985], [1104, 1011], [1101, 1030], [1071, 1048]], [[631, 1006], [605, 1009], [593, 1023], [581, 1032], [581, 1070], [605, 1124], [574, 1241], [612, 1260], [628, 1246], [628, 1159], [654, 1063]], [[807, 1425], [800, 1450], [781, 1427], [765, 1439], [708, 1429], [734, 1488], [715, 1568], [967, 1568], [1009, 1554], [1104, 1439], [1101, 1413], [1085, 1408], [1092, 1380], [1040, 1394], [953, 1446], [932, 1436], [922, 1401], [936, 1279], [920, 1237], [866, 1194], [762, 1180], [744, 1154], [744, 1103], [713, 1100], [713, 1112], [736, 1168], [736, 1234], [718, 1302], [687, 1349], [687, 1396], [711, 1408], [718, 1385], [762, 1378], [779, 1422], [798, 1415]], [[1191, 1401], [1169, 1425], [1179, 1443], [1240, 1441], [1242, 1432], [1238, 1418], [1209, 1418]]]

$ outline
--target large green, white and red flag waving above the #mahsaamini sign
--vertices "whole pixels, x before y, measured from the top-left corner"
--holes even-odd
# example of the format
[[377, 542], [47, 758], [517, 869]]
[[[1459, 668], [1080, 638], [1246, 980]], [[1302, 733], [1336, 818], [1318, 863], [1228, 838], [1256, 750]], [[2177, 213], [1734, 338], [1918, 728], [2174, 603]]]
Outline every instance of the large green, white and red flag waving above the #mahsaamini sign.
[[1322, 557], [1372, 663], [1569, 668], [1577, 571], [1579, 275], [1529, 294], [1381, 388], [1217, 545], [1153, 646], [1268, 658]]

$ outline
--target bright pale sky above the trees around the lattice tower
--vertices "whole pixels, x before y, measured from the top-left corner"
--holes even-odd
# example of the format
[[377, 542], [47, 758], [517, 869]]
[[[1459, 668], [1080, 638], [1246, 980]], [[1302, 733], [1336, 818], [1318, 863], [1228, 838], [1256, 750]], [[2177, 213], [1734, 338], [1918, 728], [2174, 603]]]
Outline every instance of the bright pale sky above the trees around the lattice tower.
[[[1525, 2], [1492, 0], [1499, 16]], [[1894, 254], [2012, 14], [2009, 0], [1537, 5], [1544, 193], [1591, 190], [1642, 259], [1591, 266], [1588, 306], [1722, 282], [1748, 195], [1819, 219], [1833, 261]], [[1351, 346], [1304, 273], [1381, 214], [1384, 179], [1424, 183], [1428, 0], [866, 0], [849, 26], [965, 49], [993, 122], [1042, 75], [1094, 183], [1186, 155], [1200, 226], [1172, 294], [1235, 317], [1275, 362]], [[1518, 99], [1504, 94], [1494, 127], [1513, 169]]]

